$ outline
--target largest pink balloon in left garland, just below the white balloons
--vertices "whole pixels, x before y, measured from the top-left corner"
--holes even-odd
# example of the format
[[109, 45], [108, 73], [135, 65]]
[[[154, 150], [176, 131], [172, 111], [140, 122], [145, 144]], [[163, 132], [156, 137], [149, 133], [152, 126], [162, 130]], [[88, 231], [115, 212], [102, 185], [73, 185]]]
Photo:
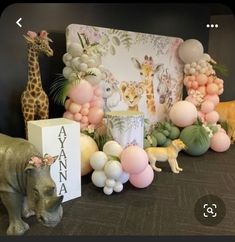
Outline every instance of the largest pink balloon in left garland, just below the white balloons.
[[77, 104], [90, 102], [93, 97], [93, 88], [91, 84], [82, 80], [78, 85], [72, 85], [68, 96]]

